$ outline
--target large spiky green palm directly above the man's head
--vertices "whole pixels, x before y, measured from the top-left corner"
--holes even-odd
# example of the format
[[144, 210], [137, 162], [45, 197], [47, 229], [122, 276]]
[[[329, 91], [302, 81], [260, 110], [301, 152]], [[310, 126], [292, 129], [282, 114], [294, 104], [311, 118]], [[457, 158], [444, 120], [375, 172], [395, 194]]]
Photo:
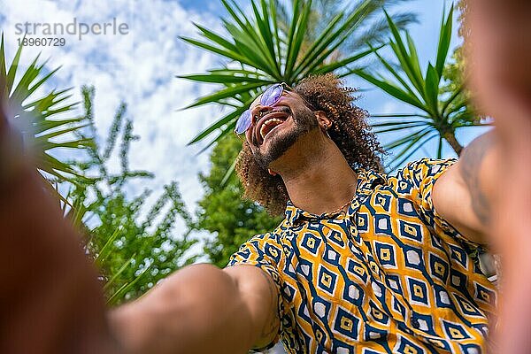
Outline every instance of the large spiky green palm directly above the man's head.
[[[226, 36], [196, 25], [201, 40], [181, 38], [219, 54], [227, 59], [227, 64], [208, 73], [178, 77], [223, 85], [187, 108], [213, 103], [229, 107], [230, 112], [190, 143], [202, 141], [215, 132], [219, 134], [208, 146], [219, 141], [234, 129], [238, 117], [267, 85], [275, 82], [294, 85], [319, 73], [349, 75], [356, 69], [352, 66], [371, 53], [366, 42], [371, 41], [379, 48], [384, 34], [389, 33], [387, 23], [383, 26], [378, 18], [381, 6], [391, 7], [403, 1], [407, 0], [362, 0], [354, 4], [292, 0], [289, 8], [278, 0], [252, 0], [251, 12], [245, 14], [234, 0], [221, 0], [229, 14], [228, 19], [223, 19]], [[321, 8], [330, 11], [320, 16]], [[399, 26], [405, 26], [414, 16], [397, 14], [394, 19]]]

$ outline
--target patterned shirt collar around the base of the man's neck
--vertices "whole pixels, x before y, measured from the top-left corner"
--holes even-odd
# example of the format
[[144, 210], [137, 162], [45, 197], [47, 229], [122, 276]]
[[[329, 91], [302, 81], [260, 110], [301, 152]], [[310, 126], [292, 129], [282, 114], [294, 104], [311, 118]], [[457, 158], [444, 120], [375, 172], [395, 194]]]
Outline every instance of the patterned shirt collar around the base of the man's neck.
[[[358, 186], [356, 187], [356, 196], [354, 196], [350, 204], [349, 213], [356, 212], [359, 204], [366, 199], [366, 196], [369, 196], [376, 186], [387, 181], [386, 175], [383, 173], [375, 173], [362, 168], [358, 168], [356, 173], [358, 173]], [[299, 219], [330, 219], [338, 214], [340, 212], [325, 212], [320, 215], [312, 214], [311, 212], [297, 208], [290, 200], [288, 201], [285, 212], [286, 221], [289, 226], [295, 225]]]

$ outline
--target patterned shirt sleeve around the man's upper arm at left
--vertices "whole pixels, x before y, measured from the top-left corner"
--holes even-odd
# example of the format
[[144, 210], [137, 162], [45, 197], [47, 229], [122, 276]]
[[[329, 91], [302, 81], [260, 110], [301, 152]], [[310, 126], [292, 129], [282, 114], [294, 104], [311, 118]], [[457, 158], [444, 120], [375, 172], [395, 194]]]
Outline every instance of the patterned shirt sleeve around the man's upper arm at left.
[[[284, 304], [282, 303], [281, 289], [282, 289], [282, 280], [279, 269], [281, 264], [284, 262], [282, 257], [282, 248], [278, 242], [278, 235], [274, 234], [263, 234], [256, 235], [250, 238], [248, 242], [242, 244], [240, 249], [233, 254], [229, 260], [227, 266], [258, 266], [266, 272], [272, 279], [277, 289], [278, 294], [278, 316], [279, 319], [283, 318], [284, 315]], [[279, 332], [275, 335], [273, 342], [269, 343], [266, 348], [261, 348], [257, 350], [266, 350], [270, 349], [279, 342], [281, 338], [281, 327], [282, 320], [280, 321], [281, 325], [279, 327]]]

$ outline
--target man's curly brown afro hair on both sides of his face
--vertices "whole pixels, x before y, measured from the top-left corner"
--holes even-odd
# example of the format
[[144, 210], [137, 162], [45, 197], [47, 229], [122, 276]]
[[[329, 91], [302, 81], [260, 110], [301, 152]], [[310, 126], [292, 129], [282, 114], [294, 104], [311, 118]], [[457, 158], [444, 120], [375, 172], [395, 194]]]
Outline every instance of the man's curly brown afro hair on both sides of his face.
[[[355, 89], [343, 86], [332, 73], [300, 81], [294, 91], [302, 96], [312, 111], [323, 111], [332, 121], [330, 138], [341, 150], [352, 169], [381, 171], [384, 150], [366, 123], [368, 113], [353, 104]], [[272, 176], [256, 162], [248, 142], [244, 142], [236, 161], [236, 172], [245, 190], [244, 197], [264, 206], [272, 215], [281, 215], [289, 200], [280, 175]]]

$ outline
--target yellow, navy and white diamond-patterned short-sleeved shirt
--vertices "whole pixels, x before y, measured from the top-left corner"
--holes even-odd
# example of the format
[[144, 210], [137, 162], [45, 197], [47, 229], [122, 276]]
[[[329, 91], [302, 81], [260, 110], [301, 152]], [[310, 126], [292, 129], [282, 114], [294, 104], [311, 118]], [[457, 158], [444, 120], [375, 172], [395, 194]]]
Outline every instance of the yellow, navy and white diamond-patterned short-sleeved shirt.
[[288, 353], [484, 353], [496, 287], [481, 273], [483, 248], [431, 199], [454, 162], [423, 158], [396, 176], [358, 169], [347, 212], [289, 203], [279, 227], [242, 244], [228, 266], [258, 266], [279, 290], [274, 342]]

